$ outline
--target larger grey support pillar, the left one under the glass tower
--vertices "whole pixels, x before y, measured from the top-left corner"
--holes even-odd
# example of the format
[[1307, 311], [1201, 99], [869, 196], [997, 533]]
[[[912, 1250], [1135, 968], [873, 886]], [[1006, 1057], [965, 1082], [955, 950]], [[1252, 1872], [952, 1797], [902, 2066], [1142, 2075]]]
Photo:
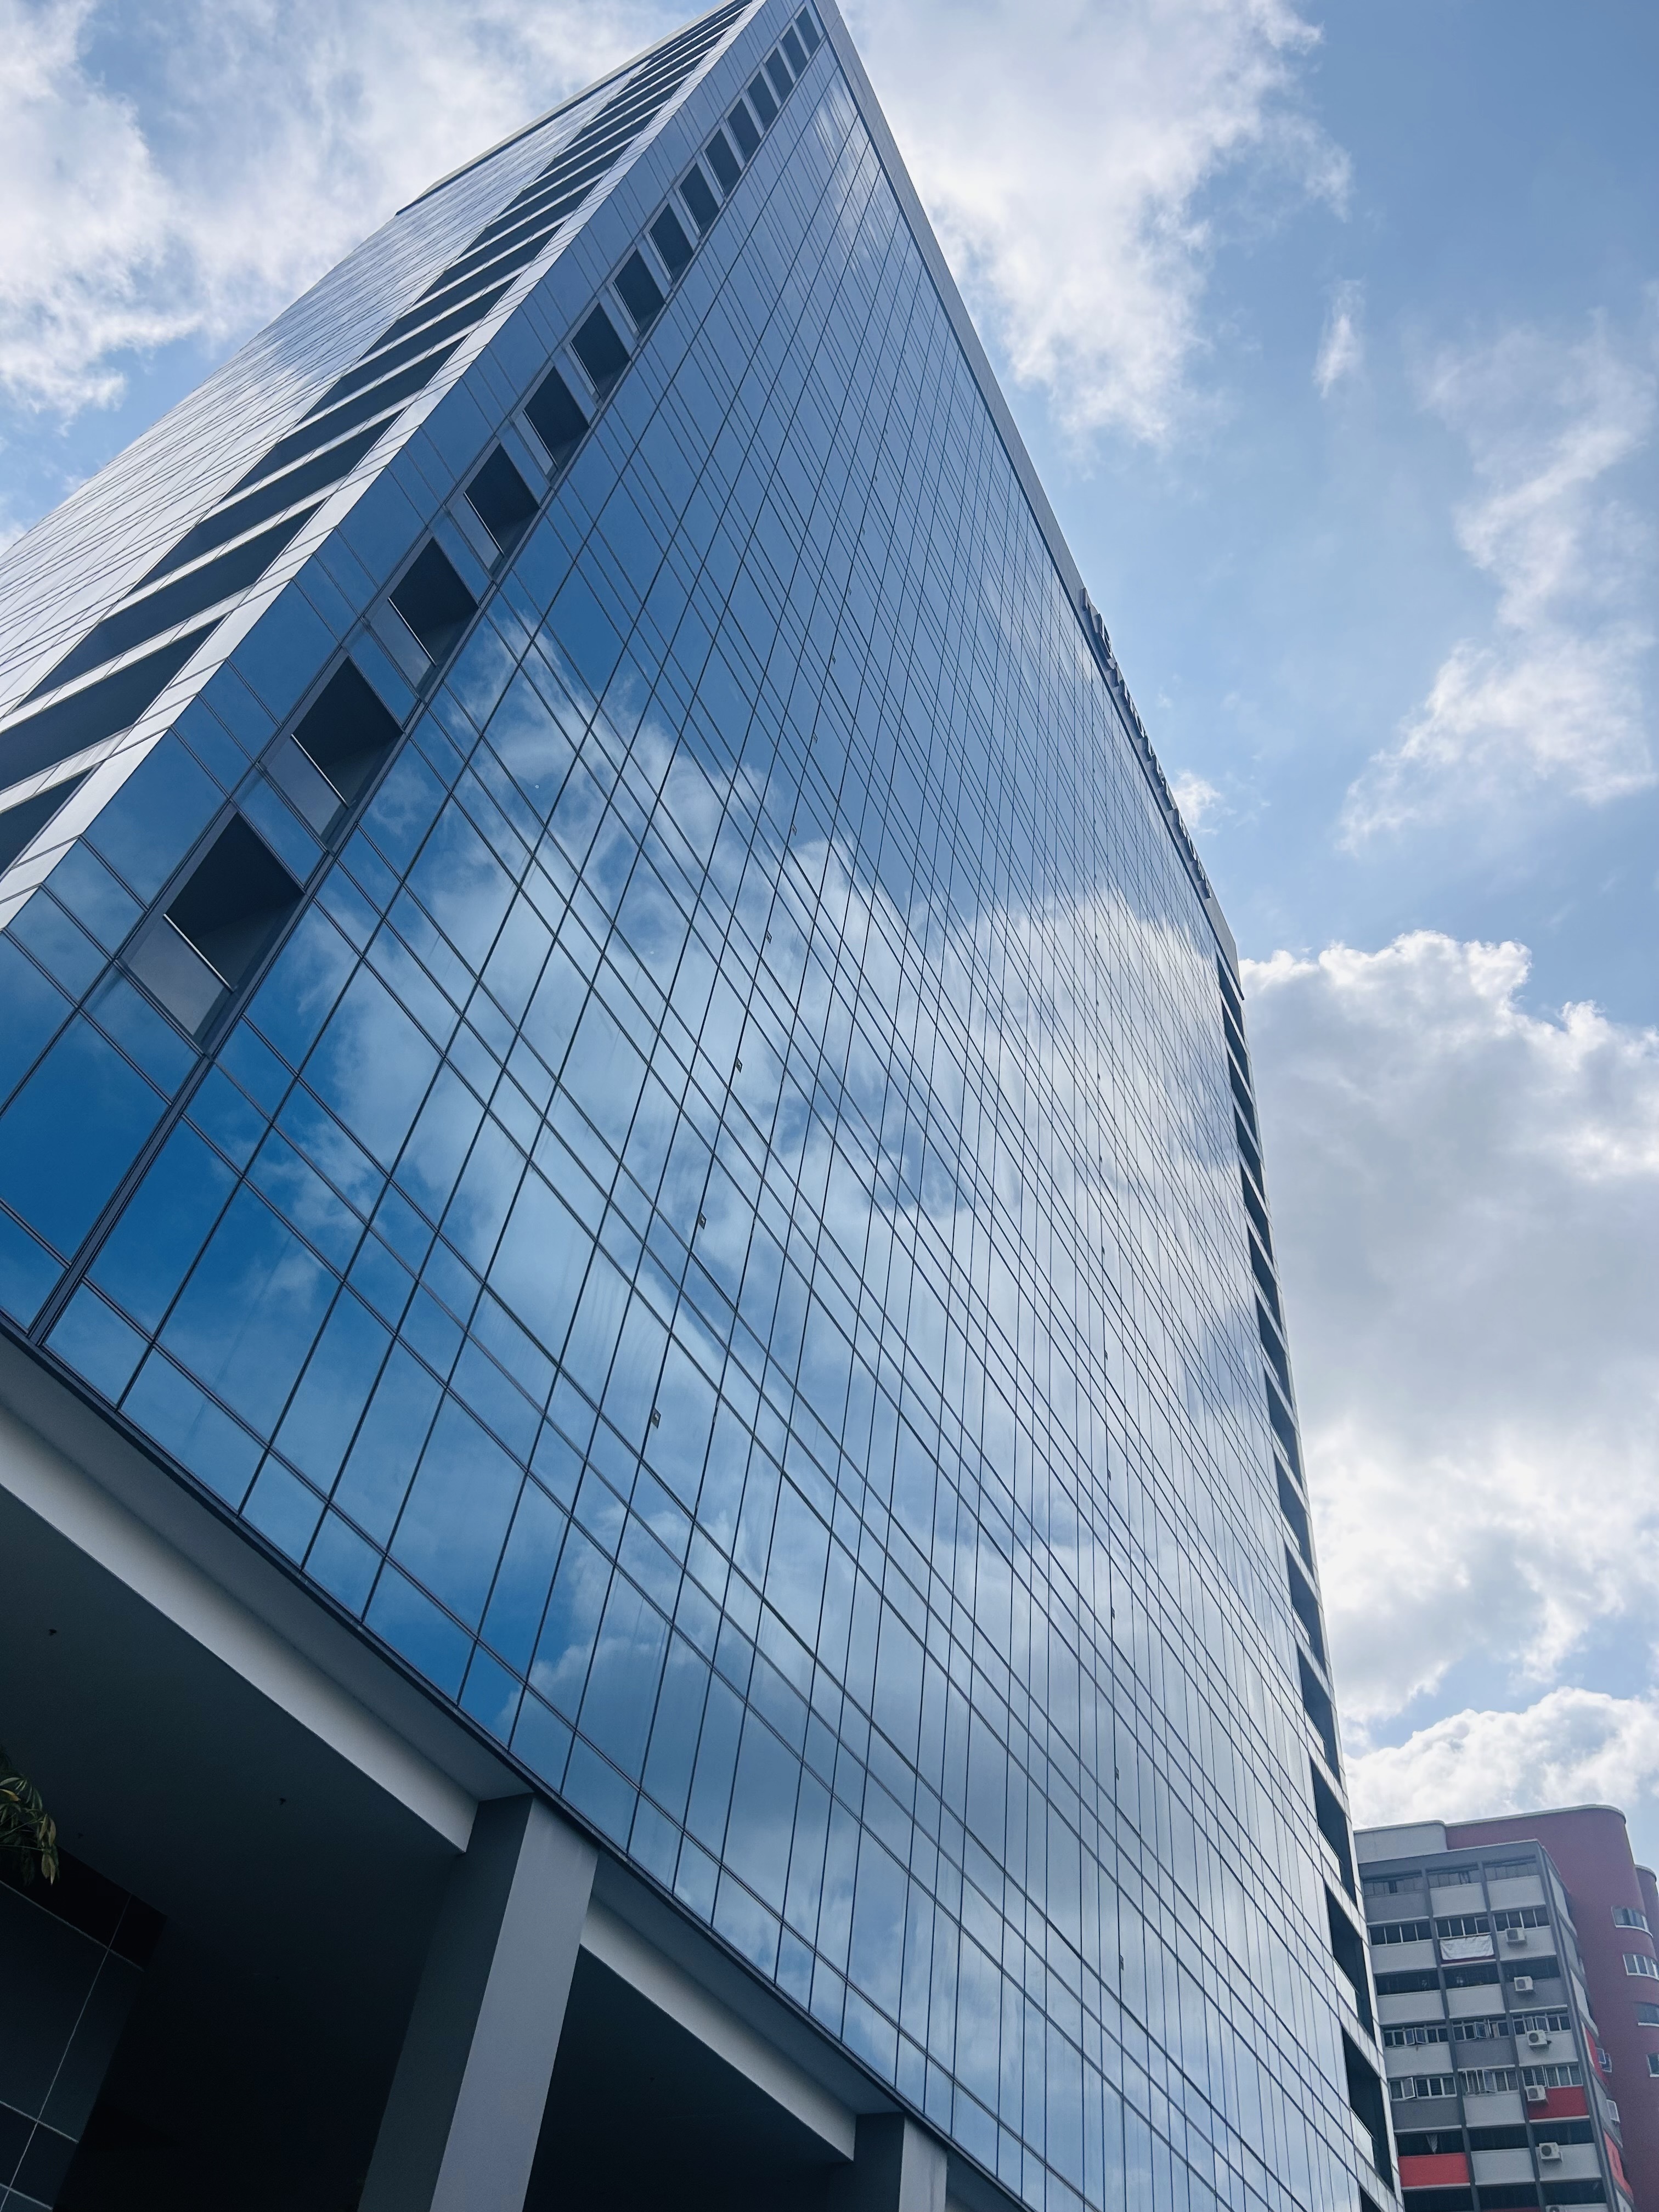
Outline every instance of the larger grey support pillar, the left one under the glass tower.
[[361, 2212], [522, 2212], [595, 1849], [540, 1798], [478, 1807], [449, 1874]]

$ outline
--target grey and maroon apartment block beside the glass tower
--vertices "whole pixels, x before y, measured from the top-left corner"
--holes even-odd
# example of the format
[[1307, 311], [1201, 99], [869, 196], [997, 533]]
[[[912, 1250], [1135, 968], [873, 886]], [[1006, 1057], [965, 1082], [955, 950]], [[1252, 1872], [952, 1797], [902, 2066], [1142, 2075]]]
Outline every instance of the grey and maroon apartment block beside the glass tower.
[[1659, 2203], [1652, 1874], [1624, 1814], [1356, 1843], [1407, 2212]]

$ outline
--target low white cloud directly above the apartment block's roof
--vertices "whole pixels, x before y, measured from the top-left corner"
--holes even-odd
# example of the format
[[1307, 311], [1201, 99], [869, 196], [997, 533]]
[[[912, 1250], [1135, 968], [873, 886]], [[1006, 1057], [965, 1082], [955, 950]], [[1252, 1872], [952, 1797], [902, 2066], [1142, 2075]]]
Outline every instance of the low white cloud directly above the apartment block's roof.
[[1360, 1827], [1480, 1820], [1659, 1796], [1659, 1701], [1551, 1690], [1524, 1712], [1453, 1712], [1349, 1763]]

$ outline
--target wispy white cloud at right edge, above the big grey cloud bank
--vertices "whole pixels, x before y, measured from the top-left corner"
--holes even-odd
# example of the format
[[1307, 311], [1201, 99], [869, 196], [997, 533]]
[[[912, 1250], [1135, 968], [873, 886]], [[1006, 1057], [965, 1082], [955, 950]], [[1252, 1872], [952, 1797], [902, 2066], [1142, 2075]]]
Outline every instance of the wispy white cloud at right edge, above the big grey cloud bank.
[[1458, 542], [1498, 588], [1394, 745], [1347, 794], [1349, 845], [1553, 787], [1593, 805], [1655, 781], [1646, 661], [1655, 538], [1617, 471], [1655, 418], [1652, 365], [1601, 327], [1575, 345], [1515, 330], [1444, 354], [1425, 400], [1467, 440], [1478, 495]]

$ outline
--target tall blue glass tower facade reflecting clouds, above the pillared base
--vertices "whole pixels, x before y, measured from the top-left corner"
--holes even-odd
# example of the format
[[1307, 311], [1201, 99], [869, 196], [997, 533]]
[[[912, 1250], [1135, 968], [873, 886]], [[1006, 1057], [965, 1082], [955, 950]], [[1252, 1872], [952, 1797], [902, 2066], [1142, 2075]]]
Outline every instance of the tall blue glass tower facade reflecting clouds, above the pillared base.
[[951, 2201], [1391, 2201], [1232, 940], [834, 9], [398, 212], [0, 699], [7, 1374]]

